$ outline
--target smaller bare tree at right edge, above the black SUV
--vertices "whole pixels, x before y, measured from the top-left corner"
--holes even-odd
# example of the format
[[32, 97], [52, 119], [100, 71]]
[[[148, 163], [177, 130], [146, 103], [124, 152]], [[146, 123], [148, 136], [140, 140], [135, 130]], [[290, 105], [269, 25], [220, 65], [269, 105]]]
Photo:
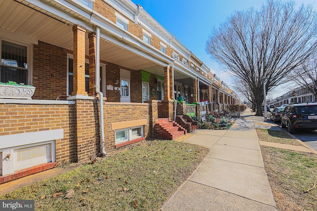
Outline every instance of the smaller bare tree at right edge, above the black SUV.
[[291, 74], [290, 80], [314, 94], [317, 100], [317, 58], [310, 60], [296, 68]]

